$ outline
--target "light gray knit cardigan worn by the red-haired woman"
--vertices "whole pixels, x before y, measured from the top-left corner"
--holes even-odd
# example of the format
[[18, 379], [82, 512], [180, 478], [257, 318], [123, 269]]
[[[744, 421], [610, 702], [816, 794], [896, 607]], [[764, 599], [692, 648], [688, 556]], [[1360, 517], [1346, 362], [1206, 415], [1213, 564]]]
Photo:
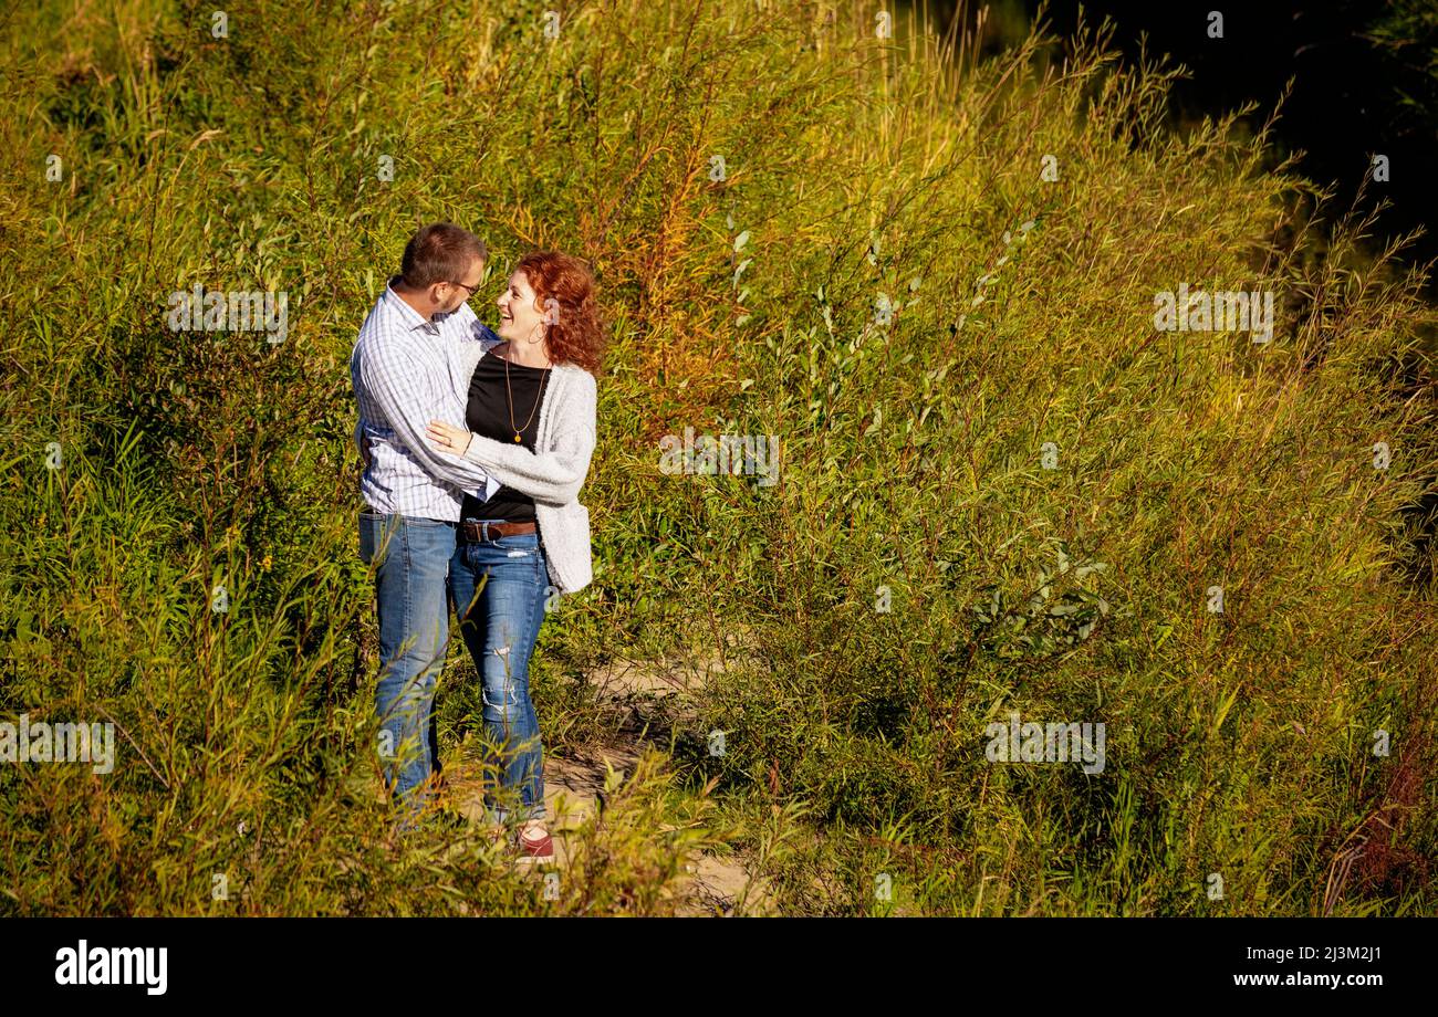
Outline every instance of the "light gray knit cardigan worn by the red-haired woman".
[[[486, 342], [485, 352], [495, 345]], [[597, 401], [594, 375], [572, 363], [557, 363], [539, 407], [535, 451], [479, 434], [464, 450], [464, 457], [495, 480], [535, 500], [539, 543], [549, 579], [561, 593], [575, 593], [594, 577], [590, 510], [580, 504], [578, 494], [594, 454]]]

